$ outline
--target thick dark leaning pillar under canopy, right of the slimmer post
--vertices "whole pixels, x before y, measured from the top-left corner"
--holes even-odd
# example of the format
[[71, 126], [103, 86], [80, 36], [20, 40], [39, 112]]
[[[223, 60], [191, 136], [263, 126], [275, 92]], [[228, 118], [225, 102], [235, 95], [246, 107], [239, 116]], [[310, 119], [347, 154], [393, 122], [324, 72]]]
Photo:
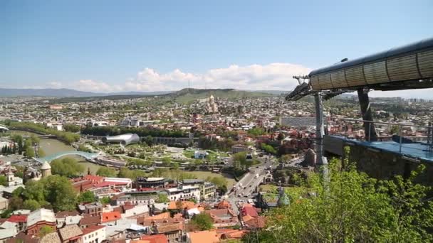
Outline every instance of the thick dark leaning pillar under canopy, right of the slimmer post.
[[370, 98], [368, 97], [368, 90], [358, 89], [358, 99], [360, 101], [362, 120], [371, 121], [364, 122], [364, 132], [366, 141], [377, 141], [377, 134], [375, 124], [372, 122], [372, 114], [370, 107]]

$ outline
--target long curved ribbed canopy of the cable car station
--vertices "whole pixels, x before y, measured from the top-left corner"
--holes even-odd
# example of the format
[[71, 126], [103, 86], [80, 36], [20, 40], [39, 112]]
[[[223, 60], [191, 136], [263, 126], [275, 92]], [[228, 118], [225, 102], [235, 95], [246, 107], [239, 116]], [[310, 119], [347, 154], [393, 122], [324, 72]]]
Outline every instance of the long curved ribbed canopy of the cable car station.
[[433, 38], [313, 70], [313, 90], [378, 86], [433, 77]]

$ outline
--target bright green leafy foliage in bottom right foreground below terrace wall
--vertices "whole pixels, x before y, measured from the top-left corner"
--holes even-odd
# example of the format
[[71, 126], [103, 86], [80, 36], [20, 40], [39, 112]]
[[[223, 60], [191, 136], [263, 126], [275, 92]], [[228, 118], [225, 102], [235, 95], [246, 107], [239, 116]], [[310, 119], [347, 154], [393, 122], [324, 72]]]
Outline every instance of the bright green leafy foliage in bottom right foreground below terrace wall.
[[375, 180], [338, 162], [330, 162], [328, 180], [315, 174], [289, 191], [291, 205], [269, 212], [266, 229], [244, 242], [433, 241], [430, 188], [413, 183], [424, 166], [407, 179]]

